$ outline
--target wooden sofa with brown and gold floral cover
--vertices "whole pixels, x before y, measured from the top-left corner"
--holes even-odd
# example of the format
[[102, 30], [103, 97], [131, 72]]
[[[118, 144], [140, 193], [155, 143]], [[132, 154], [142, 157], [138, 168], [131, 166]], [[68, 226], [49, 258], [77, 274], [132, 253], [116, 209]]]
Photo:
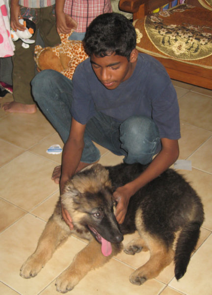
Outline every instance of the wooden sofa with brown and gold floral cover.
[[167, 0], [120, 0], [119, 9], [133, 15], [139, 52], [158, 59], [171, 79], [212, 89], [212, 0], [173, 2], [164, 10]]

